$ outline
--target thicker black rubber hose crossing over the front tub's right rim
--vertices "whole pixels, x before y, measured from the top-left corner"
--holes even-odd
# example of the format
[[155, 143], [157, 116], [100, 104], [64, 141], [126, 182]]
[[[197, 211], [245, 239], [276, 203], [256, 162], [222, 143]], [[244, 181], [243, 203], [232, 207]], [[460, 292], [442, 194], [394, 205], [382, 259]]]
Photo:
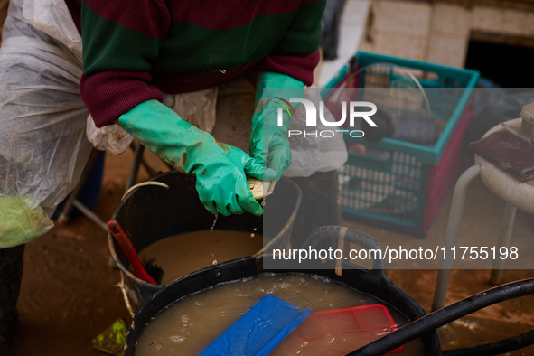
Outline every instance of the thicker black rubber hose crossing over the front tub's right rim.
[[408, 323], [393, 333], [375, 342], [348, 353], [351, 356], [379, 356], [393, 351], [407, 342], [417, 339], [425, 333], [432, 332], [464, 315], [472, 314], [486, 306], [523, 295], [534, 294], [534, 278], [523, 279], [502, 286], [496, 286], [484, 292], [472, 295], [445, 308], [426, 314], [412, 323]]

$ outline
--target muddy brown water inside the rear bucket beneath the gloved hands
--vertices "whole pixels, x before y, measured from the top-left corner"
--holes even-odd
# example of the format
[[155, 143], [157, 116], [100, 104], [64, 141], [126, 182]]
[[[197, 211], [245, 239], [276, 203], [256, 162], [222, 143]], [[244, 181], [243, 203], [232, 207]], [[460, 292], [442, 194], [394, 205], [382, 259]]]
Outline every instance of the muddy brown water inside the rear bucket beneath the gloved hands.
[[160, 239], [139, 255], [141, 260], [155, 258], [164, 270], [164, 286], [201, 268], [252, 256], [262, 247], [263, 237], [255, 232], [199, 230]]

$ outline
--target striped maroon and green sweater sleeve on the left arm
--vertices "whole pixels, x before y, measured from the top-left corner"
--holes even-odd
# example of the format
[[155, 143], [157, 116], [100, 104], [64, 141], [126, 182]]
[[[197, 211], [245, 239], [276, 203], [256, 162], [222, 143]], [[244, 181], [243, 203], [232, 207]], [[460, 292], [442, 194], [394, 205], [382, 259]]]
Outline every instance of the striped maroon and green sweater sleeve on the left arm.
[[163, 101], [149, 70], [170, 22], [163, 0], [82, 1], [80, 96], [96, 126], [147, 100]]

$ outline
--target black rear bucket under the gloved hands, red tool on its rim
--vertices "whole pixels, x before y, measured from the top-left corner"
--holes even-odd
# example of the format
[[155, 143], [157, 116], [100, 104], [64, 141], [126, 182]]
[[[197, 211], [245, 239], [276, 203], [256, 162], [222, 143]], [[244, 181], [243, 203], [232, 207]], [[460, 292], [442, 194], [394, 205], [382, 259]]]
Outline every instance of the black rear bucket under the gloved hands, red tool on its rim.
[[[165, 183], [169, 189], [140, 186], [119, 203], [112, 217], [125, 230], [136, 251], [173, 235], [211, 229], [215, 217], [199, 200], [194, 177], [174, 171], [160, 174], [149, 182]], [[245, 213], [229, 217], [219, 215], [215, 229], [248, 232], [256, 229], [270, 247], [285, 248], [300, 206], [300, 188], [288, 179], [281, 179], [266, 201], [265, 214], [269, 215], [269, 221], [275, 222], [268, 227], [264, 228], [263, 217]], [[147, 283], [130, 272], [130, 262], [111, 234], [108, 234], [108, 246], [121, 270], [126, 295], [135, 312], [163, 286]]]

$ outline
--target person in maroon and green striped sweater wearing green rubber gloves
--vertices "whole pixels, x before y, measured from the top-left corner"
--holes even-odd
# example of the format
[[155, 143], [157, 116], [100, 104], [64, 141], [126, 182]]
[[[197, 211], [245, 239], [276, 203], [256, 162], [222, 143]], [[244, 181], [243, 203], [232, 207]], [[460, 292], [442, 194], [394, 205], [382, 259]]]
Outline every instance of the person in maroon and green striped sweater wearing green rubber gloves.
[[[179, 117], [180, 112], [175, 115], [165, 108], [162, 93], [218, 87], [251, 71], [264, 73], [257, 83], [257, 98], [268, 87], [301, 89], [293, 92], [302, 91], [302, 98], [319, 61], [325, 1], [66, 3], [83, 40], [80, 96], [96, 126], [118, 122], [167, 163], [195, 174], [201, 201], [214, 214], [261, 215], [258, 201], [248, 192], [245, 173], [272, 180], [285, 172], [289, 145], [274, 138], [286, 126], [269, 135], [260, 127], [265, 125], [261, 113], [252, 117], [252, 159], [248, 159], [234, 147], [225, 151], [214, 145], [213, 137], [196, 131]], [[162, 135], [169, 130], [173, 139]], [[268, 156], [266, 167], [272, 170], [267, 177], [260, 167], [264, 136], [269, 136], [267, 151], [276, 151]], [[209, 145], [197, 148], [206, 142]]]

